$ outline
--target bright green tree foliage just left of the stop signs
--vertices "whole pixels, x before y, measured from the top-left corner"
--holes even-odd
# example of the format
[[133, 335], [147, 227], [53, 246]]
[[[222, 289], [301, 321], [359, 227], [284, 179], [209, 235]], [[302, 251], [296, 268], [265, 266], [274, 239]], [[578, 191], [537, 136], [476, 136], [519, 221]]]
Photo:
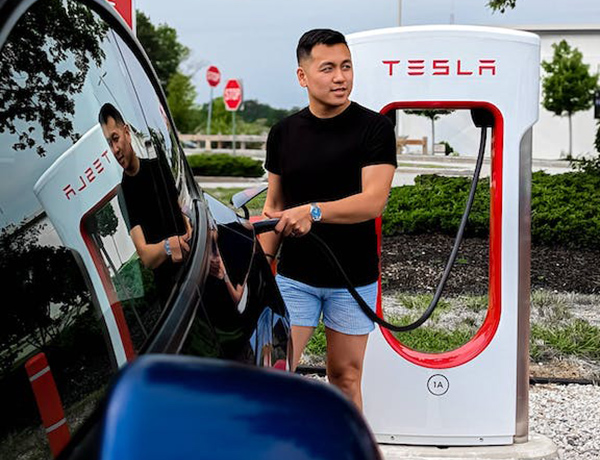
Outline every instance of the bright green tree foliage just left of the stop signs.
[[196, 132], [200, 122], [200, 113], [195, 104], [196, 88], [191, 77], [176, 72], [167, 86], [167, 102], [175, 121], [175, 127], [181, 133]]

